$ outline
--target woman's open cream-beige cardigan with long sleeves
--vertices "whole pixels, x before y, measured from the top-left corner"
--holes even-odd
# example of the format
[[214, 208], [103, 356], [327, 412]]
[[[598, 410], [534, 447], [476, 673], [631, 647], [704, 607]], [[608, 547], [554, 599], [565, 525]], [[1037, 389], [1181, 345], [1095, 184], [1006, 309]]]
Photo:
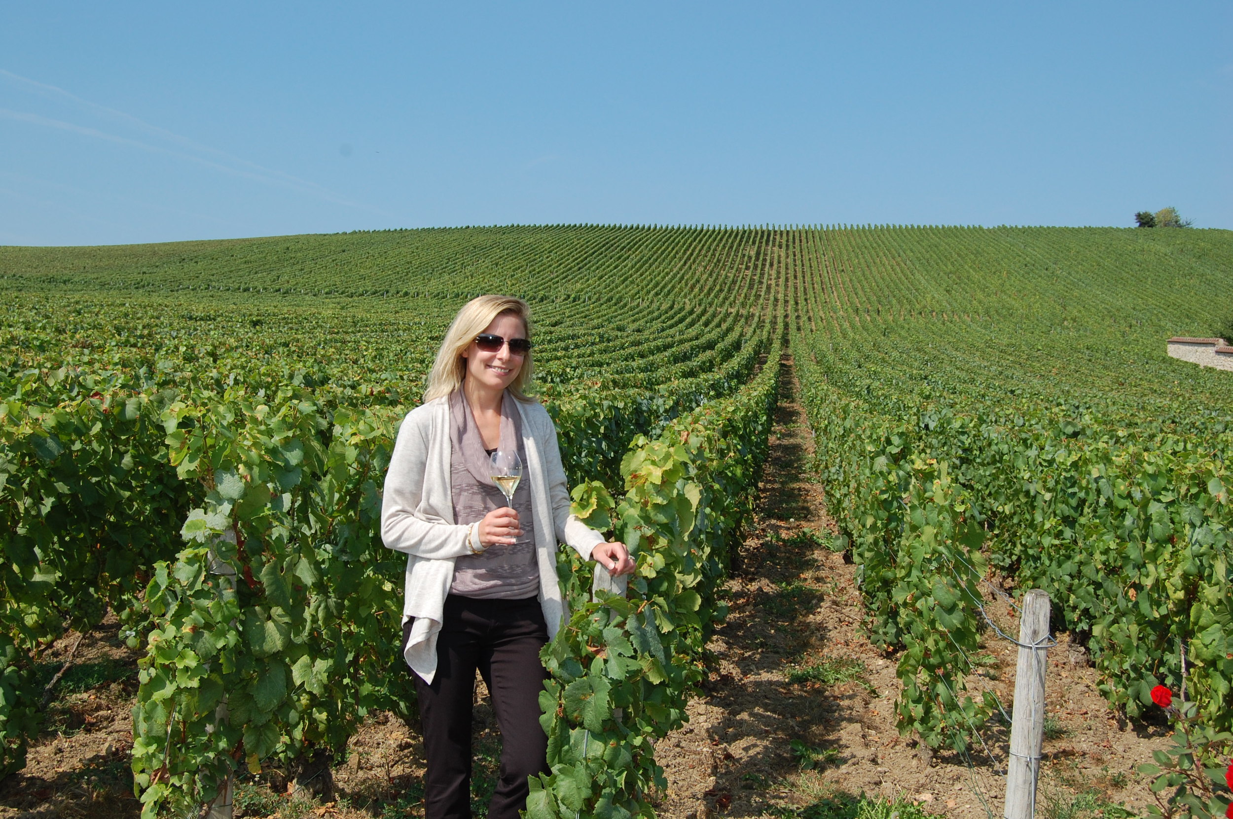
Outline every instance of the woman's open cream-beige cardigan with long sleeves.
[[[556, 578], [559, 542], [572, 546], [583, 559], [604, 542], [603, 535], [570, 514], [570, 490], [561, 468], [552, 419], [538, 403], [515, 401], [523, 418], [526, 464], [523, 477], [531, 488], [535, 517], [535, 555], [540, 570], [540, 606], [549, 638], [555, 637], [568, 611]], [[454, 522], [450, 494], [449, 399], [417, 406], [403, 419], [386, 473], [381, 500], [381, 539], [407, 553], [402, 621], [416, 618], [403, 659], [432, 682], [436, 674], [436, 635], [441, 611], [454, 580], [454, 559], [470, 554], [467, 527]]]

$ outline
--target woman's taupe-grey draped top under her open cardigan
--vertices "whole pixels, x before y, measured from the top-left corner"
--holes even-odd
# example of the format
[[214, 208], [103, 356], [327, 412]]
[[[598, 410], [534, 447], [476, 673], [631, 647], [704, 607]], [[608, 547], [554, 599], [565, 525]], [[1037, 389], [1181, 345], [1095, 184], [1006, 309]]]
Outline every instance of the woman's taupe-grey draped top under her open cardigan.
[[[518, 457], [526, 470], [522, 418], [514, 398], [501, 401], [501, 442], [515, 441]], [[464, 597], [503, 597], [524, 600], [539, 594], [539, 565], [535, 559], [535, 520], [528, 480], [520, 480], [512, 504], [506, 502], [488, 469], [488, 452], [462, 390], [450, 395], [450, 494], [454, 520], [473, 523], [494, 509], [509, 505], [518, 512], [523, 533], [512, 544], [496, 543], [480, 554], [466, 554], [454, 562], [450, 594]]]

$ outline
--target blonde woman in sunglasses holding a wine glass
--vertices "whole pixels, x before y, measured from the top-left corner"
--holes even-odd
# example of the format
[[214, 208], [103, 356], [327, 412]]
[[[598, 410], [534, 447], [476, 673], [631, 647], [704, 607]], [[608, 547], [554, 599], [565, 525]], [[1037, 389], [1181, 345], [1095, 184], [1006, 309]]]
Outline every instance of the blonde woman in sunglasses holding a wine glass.
[[[425, 819], [471, 815], [471, 703], [483, 676], [501, 725], [491, 819], [518, 819], [526, 777], [547, 770], [539, 652], [567, 617], [556, 578], [565, 542], [612, 574], [634, 570], [624, 544], [570, 514], [556, 429], [526, 398], [525, 302], [481, 296], [454, 318], [424, 404], [398, 430], [381, 537], [407, 553], [402, 653], [416, 675], [428, 759]], [[515, 448], [523, 480], [507, 504], [488, 469]]]

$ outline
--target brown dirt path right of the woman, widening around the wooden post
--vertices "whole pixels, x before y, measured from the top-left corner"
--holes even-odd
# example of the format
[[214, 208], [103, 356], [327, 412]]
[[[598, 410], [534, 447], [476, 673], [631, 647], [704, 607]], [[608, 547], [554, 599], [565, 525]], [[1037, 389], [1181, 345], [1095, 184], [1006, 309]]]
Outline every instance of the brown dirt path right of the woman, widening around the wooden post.
[[[896, 658], [866, 639], [857, 567], [829, 548], [837, 530], [810, 480], [813, 435], [785, 363], [760, 507], [724, 590], [731, 612], [708, 645], [711, 682], [690, 703], [689, 723], [657, 746], [668, 778], [660, 814], [821, 819], [827, 799], [864, 793], [906, 796], [946, 815], [1001, 817], [1005, 727], [981, 730], [996, 762], [979, 746], [969, 759], [926, 761], [895, 728]], [[1011, 608], [999, 613], [1017, 629]], [[995, 691], [1009, 711], [1015, 649], [996, 640], [985, 649], [983, 676], [969, 685]], [[835, 677], [854, 679], [826, 682]], [[1150, 794], [1133, 769], [1168, 744], [1161, 727], [1136, 732], [1115, 719], [1080, 650], [1052, 653], [1047, 691], [1039, 814], [1142, 814]]]

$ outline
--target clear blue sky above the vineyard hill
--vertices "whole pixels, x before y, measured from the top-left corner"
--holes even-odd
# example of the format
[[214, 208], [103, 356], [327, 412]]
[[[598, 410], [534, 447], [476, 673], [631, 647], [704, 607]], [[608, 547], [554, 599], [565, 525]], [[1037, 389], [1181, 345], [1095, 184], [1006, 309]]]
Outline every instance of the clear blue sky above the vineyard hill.
[[1233, 228], [1233, 4], [0, 0], [0, 244]]

